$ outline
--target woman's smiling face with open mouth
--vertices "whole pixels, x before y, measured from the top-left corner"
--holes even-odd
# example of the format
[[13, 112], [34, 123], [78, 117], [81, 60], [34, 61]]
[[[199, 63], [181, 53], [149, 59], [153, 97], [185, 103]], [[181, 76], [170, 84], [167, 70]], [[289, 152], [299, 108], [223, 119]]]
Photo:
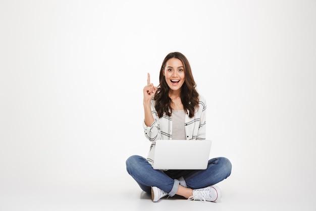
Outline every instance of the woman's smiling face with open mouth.
[[184, 66], [180, 59], [171, 58], [166, 62], [164, 76], [171, 91], [181, 91], [185, 81]]

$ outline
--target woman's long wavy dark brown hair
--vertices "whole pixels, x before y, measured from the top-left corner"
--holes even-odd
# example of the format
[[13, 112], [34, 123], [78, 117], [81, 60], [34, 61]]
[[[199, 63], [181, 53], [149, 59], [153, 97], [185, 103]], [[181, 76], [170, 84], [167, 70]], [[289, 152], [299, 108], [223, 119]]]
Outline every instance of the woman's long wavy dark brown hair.
[[184, 77], [185, 81], [181, 87], [181, 102], [183, 104], [183, 108], [185, 111], [189, 110], [189, 117], [194, 116], [194, 109], [198, 108], [198, 93], [196, 91], [196, 83], [194, 81], [191, 67], [187, 58], [179, 53], [173, 52], [169, 53], [163, 61], [162, 67], [160, 69], [159, 75], [159, 86], [154, 95], [154, 100], [156, 101], [155, 109], [158, 113], [158, 117], [162, 117], [165, 113], [167, 116], [171, 116], [172, 108], [171, 108], [171, 98], [169, 97], [169, 86], [166, 82], [166, 78], [164, 76], [164, 68], [167, 61], [171, 58], [179, 59], [184, 66]]

